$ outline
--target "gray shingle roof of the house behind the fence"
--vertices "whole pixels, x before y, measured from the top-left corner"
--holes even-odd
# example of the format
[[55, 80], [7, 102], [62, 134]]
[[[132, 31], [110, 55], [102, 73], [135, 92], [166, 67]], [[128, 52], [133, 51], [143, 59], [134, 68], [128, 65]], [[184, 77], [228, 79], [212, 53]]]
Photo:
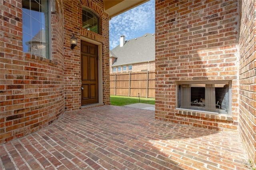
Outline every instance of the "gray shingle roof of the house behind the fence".
[[110, 51], [110, 57], [117, 57], [112, 66], [155, 61], [155, 34], [127, 40], [123, 47], [118, 45]]

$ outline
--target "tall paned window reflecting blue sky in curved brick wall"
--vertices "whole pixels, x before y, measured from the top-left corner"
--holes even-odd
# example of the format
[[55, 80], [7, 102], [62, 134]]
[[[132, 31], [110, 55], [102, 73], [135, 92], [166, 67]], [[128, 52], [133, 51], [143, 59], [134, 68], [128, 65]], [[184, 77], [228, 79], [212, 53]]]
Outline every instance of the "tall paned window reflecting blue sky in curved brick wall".
[[22, 0], [23, 52], [50, 58], [48, 0]]

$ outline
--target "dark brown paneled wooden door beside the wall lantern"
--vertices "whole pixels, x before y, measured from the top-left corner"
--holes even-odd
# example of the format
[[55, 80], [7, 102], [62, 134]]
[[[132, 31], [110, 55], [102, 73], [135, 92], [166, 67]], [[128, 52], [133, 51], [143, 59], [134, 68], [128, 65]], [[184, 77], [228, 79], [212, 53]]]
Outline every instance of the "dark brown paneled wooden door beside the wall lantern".
[[98, 103], [98, 45], [81, 41], [82, 105]]

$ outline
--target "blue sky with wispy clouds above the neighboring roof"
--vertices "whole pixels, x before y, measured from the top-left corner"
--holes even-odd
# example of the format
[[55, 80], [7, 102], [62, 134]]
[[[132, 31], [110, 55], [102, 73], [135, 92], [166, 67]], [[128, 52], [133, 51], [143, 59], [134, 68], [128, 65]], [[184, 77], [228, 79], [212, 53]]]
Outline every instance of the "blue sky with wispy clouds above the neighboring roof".
[[155, 0], [132, 8], [109, 21], [109, 48], [112, 50], [119, 45], [122, 35], [125, 40], [131, 40], [146, 33], [155, 33]]

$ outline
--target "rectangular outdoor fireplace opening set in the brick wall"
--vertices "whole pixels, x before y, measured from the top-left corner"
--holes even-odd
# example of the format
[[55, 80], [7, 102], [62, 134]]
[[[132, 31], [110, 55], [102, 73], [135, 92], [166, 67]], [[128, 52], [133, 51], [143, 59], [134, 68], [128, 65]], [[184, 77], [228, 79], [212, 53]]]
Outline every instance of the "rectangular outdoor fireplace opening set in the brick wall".
[[177, 83], [177, 107], [217, 114], [230, 114], [230, 81], [188, 81]]

